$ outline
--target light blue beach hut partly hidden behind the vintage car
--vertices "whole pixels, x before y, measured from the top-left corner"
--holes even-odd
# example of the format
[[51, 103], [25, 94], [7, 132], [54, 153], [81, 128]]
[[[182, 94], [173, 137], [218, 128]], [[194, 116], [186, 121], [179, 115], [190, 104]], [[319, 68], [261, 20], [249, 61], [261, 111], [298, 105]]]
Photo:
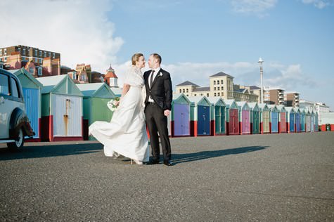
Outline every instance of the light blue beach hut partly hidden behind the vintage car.
[[25, 112], [30, 120], [35, 135], [26, 141], [41, 141], [41, 88], [43, 85], [35, 79], [25, 68], [19, 70], [9, 70], [15, 74], [23, 89], [25, 100]]

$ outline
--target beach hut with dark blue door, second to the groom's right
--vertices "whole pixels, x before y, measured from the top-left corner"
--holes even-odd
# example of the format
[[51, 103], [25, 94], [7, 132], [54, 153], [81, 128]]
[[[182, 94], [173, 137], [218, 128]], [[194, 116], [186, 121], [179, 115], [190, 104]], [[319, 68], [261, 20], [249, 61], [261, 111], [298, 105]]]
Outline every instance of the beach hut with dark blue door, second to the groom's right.
[[189, 96], [191, 101], [191, 136], [210, 136], [210, 107], [206, 96]]

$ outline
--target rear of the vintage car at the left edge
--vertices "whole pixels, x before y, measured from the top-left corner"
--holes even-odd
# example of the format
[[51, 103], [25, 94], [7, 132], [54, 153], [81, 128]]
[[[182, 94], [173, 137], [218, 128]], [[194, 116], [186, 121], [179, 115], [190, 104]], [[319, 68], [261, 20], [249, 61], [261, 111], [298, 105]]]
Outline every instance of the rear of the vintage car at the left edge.
[[23, 148], [25, 137], [34, 136], [25, 113], [25, 100], [18, 77], [0, 68], [0, 143]]

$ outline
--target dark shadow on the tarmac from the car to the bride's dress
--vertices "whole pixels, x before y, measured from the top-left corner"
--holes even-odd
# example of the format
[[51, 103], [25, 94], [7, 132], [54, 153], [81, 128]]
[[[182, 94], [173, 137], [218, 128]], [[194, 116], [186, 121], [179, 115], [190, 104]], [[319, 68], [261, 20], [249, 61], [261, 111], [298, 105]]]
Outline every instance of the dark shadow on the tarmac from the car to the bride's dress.
[[59, 157], [68, 155], [80, 155], [91, 152], [100, 152], [103, 149], [101, 143], [73, 143], [65, 145], [27, 145], [20, 151], [13, 152], [7, 148], [0, 148], [0, 161], [10, 159], [30, 159], [42, 157]]

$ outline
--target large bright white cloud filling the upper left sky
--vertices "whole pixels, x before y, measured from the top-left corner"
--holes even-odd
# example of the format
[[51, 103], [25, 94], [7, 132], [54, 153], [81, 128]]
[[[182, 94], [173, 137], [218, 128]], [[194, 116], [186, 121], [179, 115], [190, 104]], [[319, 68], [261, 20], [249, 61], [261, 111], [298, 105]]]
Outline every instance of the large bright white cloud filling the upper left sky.
[[91, 64], [105, 72], [124, 43], [105, 13], [110, 0], [1, 0], [1, 46], [25, 45], [60, 53], [62, 65]]

